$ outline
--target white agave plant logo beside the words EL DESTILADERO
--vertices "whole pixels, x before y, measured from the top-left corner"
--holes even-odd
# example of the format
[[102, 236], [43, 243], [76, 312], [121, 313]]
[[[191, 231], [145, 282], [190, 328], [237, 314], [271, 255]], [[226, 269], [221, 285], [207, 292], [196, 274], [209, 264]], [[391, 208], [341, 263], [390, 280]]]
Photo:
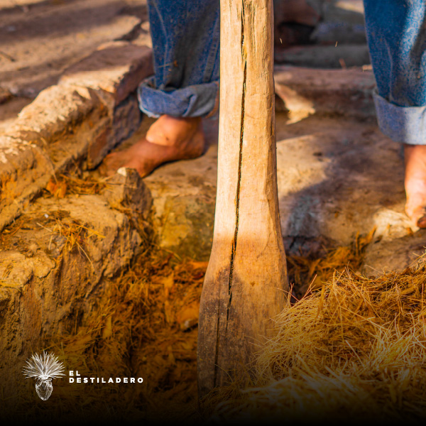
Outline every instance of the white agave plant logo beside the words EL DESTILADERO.
[[43, 351], [42, 355], [35, 354], [26, 361], [26, 366], [23, 368], [25, 378], [35, 378], [35, 391], [42, 400], [48, 400], [52, 395], [53, 386], [52, 379], [65, 376], [63, 373], [65, 367], [58, 360], [58, 356], [54, 354], [46, 354]]

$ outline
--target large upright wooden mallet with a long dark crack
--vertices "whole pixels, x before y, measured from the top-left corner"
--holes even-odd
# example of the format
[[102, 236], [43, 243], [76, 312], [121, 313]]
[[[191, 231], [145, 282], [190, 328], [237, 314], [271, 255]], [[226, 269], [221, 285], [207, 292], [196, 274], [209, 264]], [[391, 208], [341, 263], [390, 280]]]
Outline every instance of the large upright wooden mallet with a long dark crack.
[[200, 397], [244, 371], [288, 303], [272, 0], [221, 0], [219, 165], [198, 332]]

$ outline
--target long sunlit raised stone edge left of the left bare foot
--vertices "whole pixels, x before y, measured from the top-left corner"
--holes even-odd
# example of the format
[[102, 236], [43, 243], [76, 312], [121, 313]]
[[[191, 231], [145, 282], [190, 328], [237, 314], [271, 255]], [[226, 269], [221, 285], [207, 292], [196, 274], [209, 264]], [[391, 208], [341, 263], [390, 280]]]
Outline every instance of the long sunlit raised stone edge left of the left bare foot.
[[[86, 75], [81, 72], [84, 64], [111, 48], [126, 51], [129, 61], [107, 76], [90, 69]], [[75, 67], [80, 70], [78, 81], [72, 78]], [[94, 168], [109, 149], [129, 136], [129, 132], [114, 131], [114, 116], [126, 102], [133, 102], [135, 109], [132, 93], [138, 82], [152, 73], [150, 48], [123, 41], [108, 43], [65, 70], [58, 84], [44, 89], [21, 111], [13, 126], [0, 136], [0, 231], [21, 214], [55, 173], [82, 162], [84, 168]], [[135, 117], [134, 112], [131, 115]], [[85, 137], [75, 133], [83, 124]], [[136, 119], [133, 127], [136, 130]], [[61, 152], [55, 153], [58, 155], [52, 151], [55, 142], [62, 146]]]

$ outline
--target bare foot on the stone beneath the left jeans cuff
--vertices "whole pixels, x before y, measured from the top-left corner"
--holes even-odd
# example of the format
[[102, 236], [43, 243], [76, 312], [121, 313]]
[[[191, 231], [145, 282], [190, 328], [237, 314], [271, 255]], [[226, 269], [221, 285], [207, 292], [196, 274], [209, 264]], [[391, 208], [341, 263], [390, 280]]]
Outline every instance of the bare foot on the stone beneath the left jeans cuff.
[[204, 151], [204, 132], [200, 117], [189, 119], [160, 116], [146, 137], [130, 148], [107, 155], [101, 171], [113, 175], [121, 167], [134, 168], [141, 177], [168, 161], [197, 158]]

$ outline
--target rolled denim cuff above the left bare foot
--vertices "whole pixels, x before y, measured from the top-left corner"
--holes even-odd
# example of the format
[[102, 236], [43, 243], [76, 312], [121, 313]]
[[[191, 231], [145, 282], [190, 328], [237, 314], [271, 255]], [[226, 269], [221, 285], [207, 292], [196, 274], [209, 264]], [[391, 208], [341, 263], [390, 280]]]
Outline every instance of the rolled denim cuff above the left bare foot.
[[150, 117], [168, 114], [175, 117], [204, 117], [214, 111], [218, 82], [194, 84], [182, 89], [155, 88], [155, 77], [138, 87], [139, 108]]

